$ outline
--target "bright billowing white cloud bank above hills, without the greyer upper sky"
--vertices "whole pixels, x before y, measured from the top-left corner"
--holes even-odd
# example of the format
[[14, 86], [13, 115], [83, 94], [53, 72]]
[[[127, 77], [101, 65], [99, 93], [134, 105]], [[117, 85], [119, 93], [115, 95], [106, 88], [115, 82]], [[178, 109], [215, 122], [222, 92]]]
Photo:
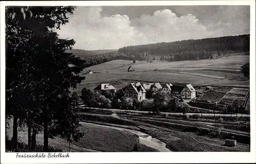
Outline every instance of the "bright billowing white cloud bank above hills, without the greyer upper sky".
[[69, 24], [58, 31], [62, 38], [73, 38], [75, 49], [119, 49], [127, 45], [169, 42], [246, 33], [245, 22], [219, 22], [204, 26], [191, 14], [178, 17], [172, 11], [158, 10], [130, 20], [127, 15], [102, 17], [101, 7], [79, 7]]

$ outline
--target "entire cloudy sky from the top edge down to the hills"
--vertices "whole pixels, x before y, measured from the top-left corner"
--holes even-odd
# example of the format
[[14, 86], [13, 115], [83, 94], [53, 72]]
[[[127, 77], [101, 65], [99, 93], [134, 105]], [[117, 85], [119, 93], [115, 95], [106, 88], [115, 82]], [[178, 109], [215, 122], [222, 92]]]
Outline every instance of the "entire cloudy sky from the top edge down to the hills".
[[58, 34], [100, 50], [249, 32], [249, 6], [94, 6], [77, 7]]

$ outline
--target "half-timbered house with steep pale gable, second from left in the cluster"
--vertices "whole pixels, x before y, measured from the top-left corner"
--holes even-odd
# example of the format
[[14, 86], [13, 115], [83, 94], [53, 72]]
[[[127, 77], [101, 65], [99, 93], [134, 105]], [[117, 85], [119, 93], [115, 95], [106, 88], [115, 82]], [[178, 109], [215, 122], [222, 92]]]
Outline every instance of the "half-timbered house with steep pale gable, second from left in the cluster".
[[139, 82], [131, 83], [124, 90], [124, 97], [135, 98], [138, 101], [142, 101], [146, 98], [146, 90]]

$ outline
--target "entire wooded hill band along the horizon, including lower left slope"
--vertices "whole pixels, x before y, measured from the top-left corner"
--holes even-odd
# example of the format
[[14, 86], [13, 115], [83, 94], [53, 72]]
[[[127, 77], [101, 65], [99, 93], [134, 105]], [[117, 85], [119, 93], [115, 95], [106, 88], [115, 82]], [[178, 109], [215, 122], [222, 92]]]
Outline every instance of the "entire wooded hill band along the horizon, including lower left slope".
[[[128, 60], [197, 60], [211, 59], [217, 56], [234, 53], [249, 52], [250, 35], [225, 36], [197, 40], [182, 40], [145, 45], [125, 46], [115, 50], [84, 51], [72, 50], [76, 57], [85, 59], [85, 66], [108, 62], [115, 59]], [[99, 54], [101, 53], [102, 54]], [[107, 52], [107, 53], [103, 53]]]

